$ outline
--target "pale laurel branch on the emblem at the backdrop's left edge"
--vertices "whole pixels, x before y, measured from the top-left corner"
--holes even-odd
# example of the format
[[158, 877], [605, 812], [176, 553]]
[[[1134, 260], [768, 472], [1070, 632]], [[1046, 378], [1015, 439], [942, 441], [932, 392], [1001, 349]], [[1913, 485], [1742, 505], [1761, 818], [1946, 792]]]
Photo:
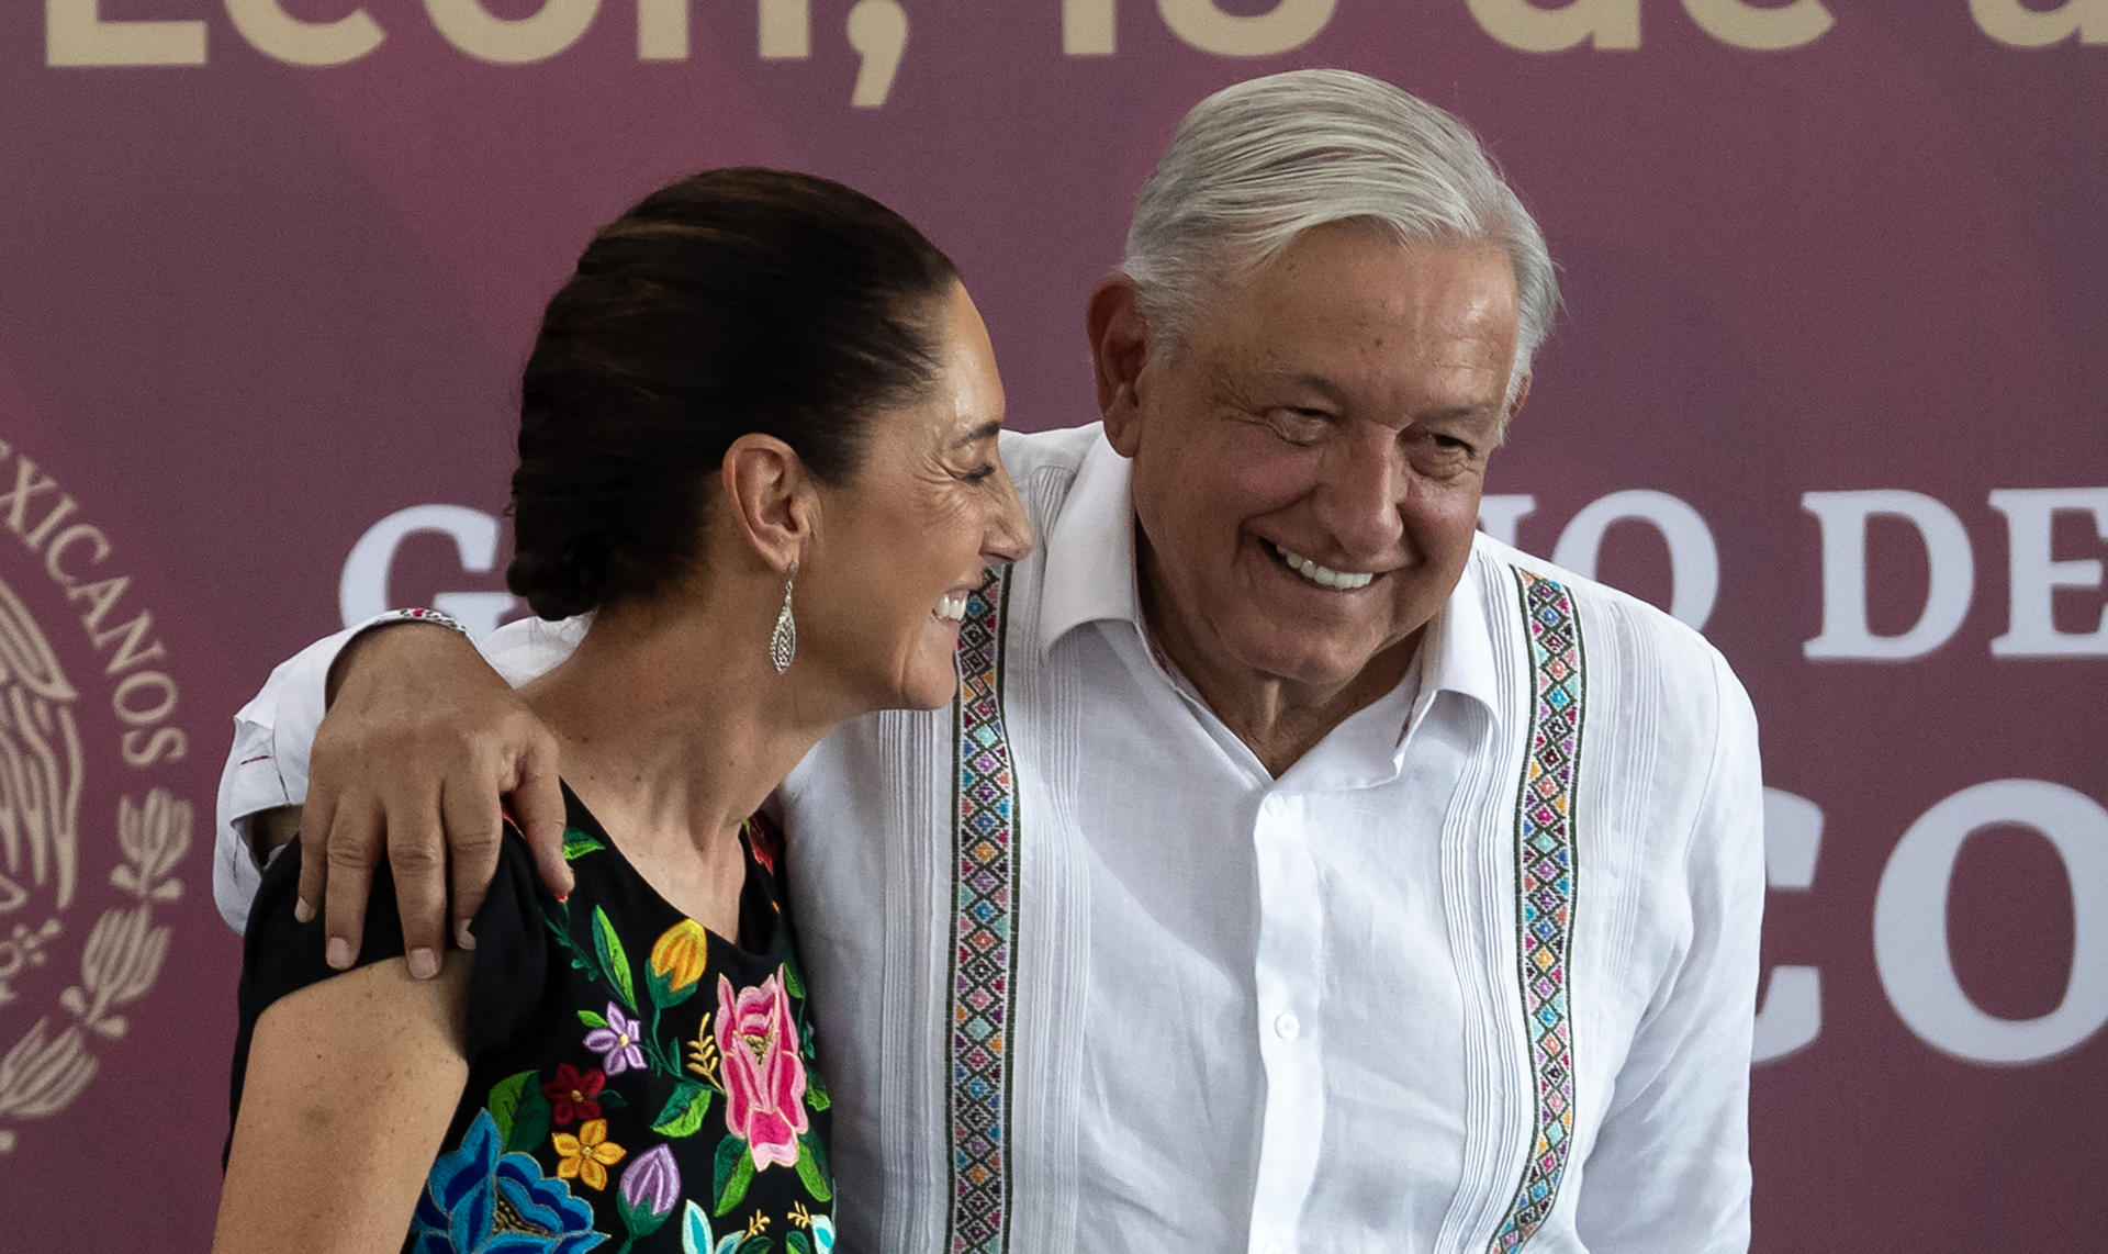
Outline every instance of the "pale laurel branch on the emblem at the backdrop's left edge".
[[[110, 883], [135, 904], [103, 910], [89, 932], [80, 982], [59, 995], [59, 1005], [72, 1020], [55, 1031], [57, 1016], [40, 1016], [0, 1056], [0, 1153], [13, 1151], [17, 1140], [4, 1121], [55, 1115], [95, 1079], [91, 1041], [122, 1039], [129, 1024], [116, 1012], [143, 997], [160, 978], [171, 927], [154, 925], [154, 906], [183, 896], [183, 881], [171, 870], [190, 851], [190, 803], [177, 801], [167, 788], [150, 790], [143, 803], [118, 799], [124, 862], [110, 873]], [[15, 927], [0, 942], [0, 993], [6, 993], [6, 976], [44, 961], [57, 934], [59, 921], [48, 919], [40, 929]]]

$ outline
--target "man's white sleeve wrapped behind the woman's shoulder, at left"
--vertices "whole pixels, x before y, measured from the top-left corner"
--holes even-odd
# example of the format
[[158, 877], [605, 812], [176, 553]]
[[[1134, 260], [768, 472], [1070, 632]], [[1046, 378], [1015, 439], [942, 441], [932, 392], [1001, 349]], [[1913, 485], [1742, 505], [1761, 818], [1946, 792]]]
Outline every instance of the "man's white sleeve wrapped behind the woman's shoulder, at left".
[[[360, 632], [401, 622], [415, 620], [390, 611], [323, 636], [280, 662], [264, 689], [234, 714], [234, 748], [219, 773], [213, 835], [213, 902], [228, 927], [242, 932], [249, 925], [249, 902], [264, 883], [266, 858], [255, 849], [255, 816], [308, 799], [308, 750], [323, 725], [329, 668]], [[497, 628], [476, 647], [508, 683], [521, 685], [563, 662], [586, 626], [586, 618], [561, 624], [529, 618]]]

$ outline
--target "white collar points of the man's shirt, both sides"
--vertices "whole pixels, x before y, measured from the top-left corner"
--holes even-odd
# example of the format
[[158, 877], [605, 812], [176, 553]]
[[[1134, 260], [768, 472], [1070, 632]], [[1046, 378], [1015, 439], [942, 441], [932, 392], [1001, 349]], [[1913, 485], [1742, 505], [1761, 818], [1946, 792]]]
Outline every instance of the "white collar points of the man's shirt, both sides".
[[[1041, 655], [1054, 641], [1088, 622], [1128, 622], [1147, 639], [1134, 571], [1132, 487], [1132, 464], [1105, 438], [1094, 440], [1077, 466], [1060, 514], [1046, 533]], [[1490, 563], [1486, 537], [1480, 535], [1448, 603], [1427, 624], [1427, 636], [1421, 641], [1421, 693], [1414, 706], [1425, 706], [1436, 693], [1455, 691], [1480, 702], [1499, 721], [1501, 702], [1484, 588]]]

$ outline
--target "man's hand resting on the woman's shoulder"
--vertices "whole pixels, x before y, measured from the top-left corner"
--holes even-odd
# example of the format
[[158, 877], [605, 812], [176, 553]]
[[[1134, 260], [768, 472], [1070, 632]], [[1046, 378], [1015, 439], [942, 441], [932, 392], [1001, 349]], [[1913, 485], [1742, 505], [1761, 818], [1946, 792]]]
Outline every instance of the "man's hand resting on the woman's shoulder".
[[312, 919], [323, 906], [329, 963], [358, 957], [384, 856], [411, 974], [438, 974], [449, 917], [455, 942], [472, 948], [468, 921], [497, 870], [506, 795], [544, 883], [571, 891], [557, 742], [533, 710], [453, 630], [401, 624], [352, 641], [329, 672], [299, 818], [297, 908]]

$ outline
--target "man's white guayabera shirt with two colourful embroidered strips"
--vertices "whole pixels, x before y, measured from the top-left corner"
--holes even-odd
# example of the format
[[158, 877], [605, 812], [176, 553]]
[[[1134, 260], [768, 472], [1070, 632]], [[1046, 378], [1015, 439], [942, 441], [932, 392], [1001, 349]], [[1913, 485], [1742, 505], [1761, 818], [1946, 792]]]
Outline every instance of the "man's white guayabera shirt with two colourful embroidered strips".
[[[1275, 780], [1153, 655], [1100, 430], [1003, 457], [1041, 544], [972, 601], [961, 700], [778, 797], [843, 1248], [1745, 1250], [1762, 816], [1720, 655], [1480, 535], [1412, 679]], [[483, 649], [516, 683], [578, 634]], [[238, 717], [232, 923], [344, 639]]]

